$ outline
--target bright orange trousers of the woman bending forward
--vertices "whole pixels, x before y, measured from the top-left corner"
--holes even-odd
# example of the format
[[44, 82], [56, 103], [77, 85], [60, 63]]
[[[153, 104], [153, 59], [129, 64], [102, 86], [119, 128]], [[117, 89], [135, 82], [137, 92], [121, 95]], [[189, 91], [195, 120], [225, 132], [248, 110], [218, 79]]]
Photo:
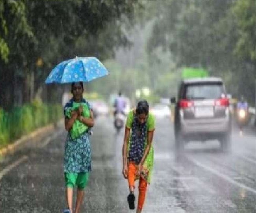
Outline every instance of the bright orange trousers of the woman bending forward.
[[[134, 186], [136, 177], [137, 165], [134, 162], [128, 163], [128, 184], [129, 188]], [[147, 191], [147, 181], [143, 178], [139, 178], [139, 198], [138, 198], [138, 209], [142, 209]]]

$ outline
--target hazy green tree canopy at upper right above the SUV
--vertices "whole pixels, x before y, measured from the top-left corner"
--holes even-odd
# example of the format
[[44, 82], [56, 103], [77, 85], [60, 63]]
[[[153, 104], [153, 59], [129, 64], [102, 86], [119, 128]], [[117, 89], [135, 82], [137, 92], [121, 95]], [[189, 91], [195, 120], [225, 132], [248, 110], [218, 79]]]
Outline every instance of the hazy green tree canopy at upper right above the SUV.
[[165, 1], [154, 7], [149, 55], [162, 47], [177, 70], [204, 67], [224, 79], [229, 93], [254, 102], [255, 1]]

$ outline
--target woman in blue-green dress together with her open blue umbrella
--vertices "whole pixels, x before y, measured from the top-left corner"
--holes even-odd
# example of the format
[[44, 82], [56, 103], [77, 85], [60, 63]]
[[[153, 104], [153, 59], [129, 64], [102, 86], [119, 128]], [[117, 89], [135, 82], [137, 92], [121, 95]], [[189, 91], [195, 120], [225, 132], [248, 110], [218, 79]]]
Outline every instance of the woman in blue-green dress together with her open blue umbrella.
[[75, 185], [78, 186], [78, 191], [74, 213], [79, 212], [91, 171], [89, 135], [94, 121], [90, 105], [82, 97], [83, 82], [90, 82], [106, 75], [108, 70], [96, 57], [76, 57], [59, 63], [45, 80], [46, 84], [72, 83], [73, 98], [64, 107], [65, 128], [68, 131], [64, 156], [68, 208], [64, 213], [72, 213], [72, 194]]

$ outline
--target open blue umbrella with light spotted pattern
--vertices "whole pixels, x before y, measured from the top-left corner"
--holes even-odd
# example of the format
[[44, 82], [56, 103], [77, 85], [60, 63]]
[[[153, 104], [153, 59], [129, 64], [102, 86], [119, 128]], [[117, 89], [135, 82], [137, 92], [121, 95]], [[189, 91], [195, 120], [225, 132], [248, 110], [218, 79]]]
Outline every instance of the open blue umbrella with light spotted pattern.
[[96, 57], [76, 57], [54, 67], [45, 83], [89, 82], [108, 74], [106, 67]]

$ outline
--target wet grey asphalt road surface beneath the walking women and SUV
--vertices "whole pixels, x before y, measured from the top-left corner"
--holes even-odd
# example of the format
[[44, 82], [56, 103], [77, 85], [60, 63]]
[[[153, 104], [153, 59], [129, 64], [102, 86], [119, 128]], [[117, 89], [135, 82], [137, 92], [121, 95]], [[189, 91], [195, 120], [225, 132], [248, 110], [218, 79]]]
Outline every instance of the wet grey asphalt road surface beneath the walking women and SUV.
[[[31, 142], [0, 163], [0, 212], [57, 213], [65, 207], [64, 129]], [[126, 213], [127, 183], [121, 175], [122, 134], [107, 118], [98, 118], [91, 137], [93, 171], [82, 213]], [[155, 164], [143, 212], [255, 213], [256, 137], [232, 134], [232, 153], [218, 142], [187, 144], [174, 153], [173, 126], [157, 120]], [[75, 194], [75, 193], [74, 193]]]

